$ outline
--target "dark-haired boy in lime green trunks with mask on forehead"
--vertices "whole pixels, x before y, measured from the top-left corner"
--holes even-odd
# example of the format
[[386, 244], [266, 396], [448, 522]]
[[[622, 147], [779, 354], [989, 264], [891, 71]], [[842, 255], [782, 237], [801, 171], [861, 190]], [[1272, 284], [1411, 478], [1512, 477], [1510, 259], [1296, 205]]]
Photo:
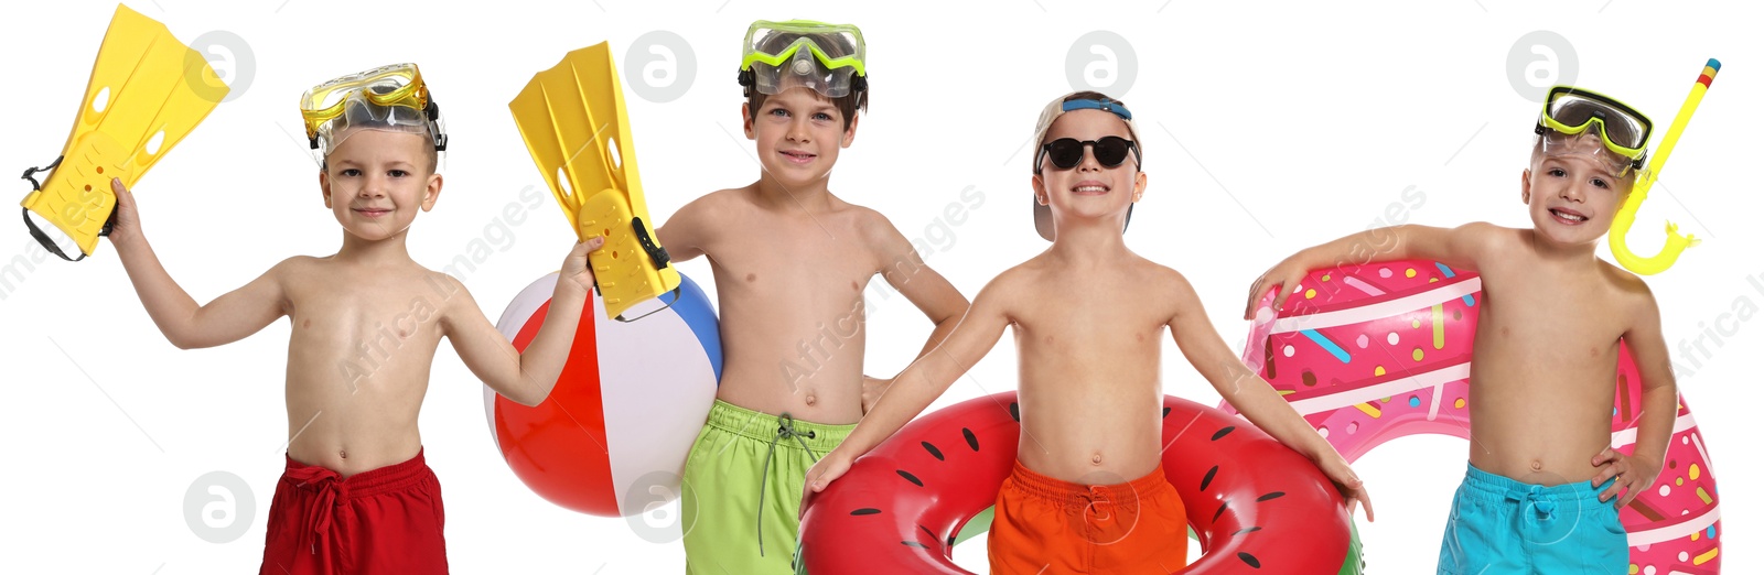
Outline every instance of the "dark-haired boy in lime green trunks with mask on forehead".
[[864, 365], [864, 286], [882, 275], [937, 328], [968, 307], [880, 213], [829, 190], [868, 102], [856, 26], [759, 21], [741, 65], [755, 182], [656, 229], [674, 261], [711, 259], [723, 339], [716, 402], [686, 459], [686, 573], [790, 573], [808, 467], [880, 395]]

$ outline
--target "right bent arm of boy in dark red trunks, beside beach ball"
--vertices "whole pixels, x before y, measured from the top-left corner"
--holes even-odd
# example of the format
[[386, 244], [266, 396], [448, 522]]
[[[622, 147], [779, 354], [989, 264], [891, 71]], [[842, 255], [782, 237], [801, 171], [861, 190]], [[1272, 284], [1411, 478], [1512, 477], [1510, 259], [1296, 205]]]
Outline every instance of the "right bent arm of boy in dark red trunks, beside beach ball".
[[[605, 238], [594, 236], [579, 242], [557, 272], [557, 288], [545, 310], [545, 323], [527, 344], [524, 353], [503, 337], [501, 332], [483, 317], [483, 310], [473, 302], [457, 279], [445, 275], [450, 296], [443, 305], [441, 333], [453, 342], [453, 351], [460, 362], [483, 385], [503, 393], [522, 406], [538, 406], [550, 395], [563, 374], [563, 363], [570, 358], [570, 346], [575, 342], [575, 328], [587, 305], [589, 291], [594, 286], [594, 272], [587, 270], [587, 252], [600, 249]], [[593, 307], [589, 307], [593, 309]]]

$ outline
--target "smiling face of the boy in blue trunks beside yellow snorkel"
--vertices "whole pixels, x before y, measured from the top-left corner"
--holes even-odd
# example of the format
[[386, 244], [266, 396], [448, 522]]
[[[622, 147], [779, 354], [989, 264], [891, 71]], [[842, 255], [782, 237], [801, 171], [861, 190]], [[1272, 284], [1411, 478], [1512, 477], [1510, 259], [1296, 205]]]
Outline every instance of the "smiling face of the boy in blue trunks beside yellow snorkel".
[[1573, 138], [1566, 153], [1533, 153], [1521, 199], [1529, 206], [1533, 228], [1565, 245], [1598, 242], [1635, 185], [1635, 169], [1605, 161], [1593, 146], [1598, 136]]

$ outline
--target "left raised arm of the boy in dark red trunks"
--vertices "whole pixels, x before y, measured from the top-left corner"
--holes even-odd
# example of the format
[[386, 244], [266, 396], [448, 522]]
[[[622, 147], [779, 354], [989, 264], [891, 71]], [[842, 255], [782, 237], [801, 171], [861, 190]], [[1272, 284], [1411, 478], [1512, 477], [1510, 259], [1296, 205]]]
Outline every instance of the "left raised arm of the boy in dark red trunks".
[[116, 178], [111, 178], [111, 190], [116, 192], [116, 224], [111, 228], [111, 245], [116, 247], [116, 256], [122, 259], [129, 280], [134, 282], [134, 291], [141, 296], [146, 314], [153, 317], [159, 333], [164, 333], [173, 346], [194, 349], [231, 344], [258, 333], [288, 312], [280, 282], [282, 265], [270, 268], [243, 288], [208, 302], [208, 305], [196, 305], [196, 300], [183, 288], [178, 288], [171, 273], [166, 273], [153, 247], [146, 243], [134, 194]]

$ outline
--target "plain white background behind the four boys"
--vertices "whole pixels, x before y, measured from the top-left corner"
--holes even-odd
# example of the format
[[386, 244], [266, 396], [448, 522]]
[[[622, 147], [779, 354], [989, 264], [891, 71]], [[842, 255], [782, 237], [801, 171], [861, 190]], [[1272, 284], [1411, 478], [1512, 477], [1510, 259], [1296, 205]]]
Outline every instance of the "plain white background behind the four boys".
[[[1759, 409], [1764, 323], [1732, 314], [1764, 303], [1764, 291], [1746, 280], [1764, 275], [1757, 256], [1764, 233], [1753, 226], [1764, 208], [1753, 168], [1755, 106], [1764, 93], [1755, 71], [1764, 49], [1755, 19], [1738, 14], [1743, 4], [1101, 5], [143, 0], [132, 7], [185, 42], [210, 30], [243, 39], [250, 56], [217, 53], [231, 58], [217, 67], [233, 67], [235, 79], [249, 72], [250, 85], [141, 180], [138, 198], [148, 238], [199, 302], [288, 256], [332, 254], [339, 228], [319, 199], [296, 99], [346, 72], [418, 62], [453, 145], [445, 192], [415, 224], [411, 256], [441, 268], [471, 254], [469, 242], [492, 245], [462, 279], [494, 319], [573, 242], [549, 199], [517, 208], [520, 222], [501, 219], [506, 205], [524, 205], [522, 189], [543, 185], [506, 108], [534, 72], [602, 41], [624, 67], [632, 42], [651, 30], [690, 42], [695, 72], [672, 79], [690, 83], [683, 97], [651, 102], [626, 79], [649, 206], [665, 222], [683, 203], [759, 175], [753, 145], [739, 136], [743, 101], [734, 83], [748, 23], [857, 23], [875, 92], [833, 189], [924, 240], [930, 265], [972, 296], [1044, 247], [1030, 224], [1023, 145], [1041, 106], [1073, 90], [1065, 71], [1074, 41], [1110, 30], [1131, 42], [1138, 69], [1127, 92], [1118, 85], [1104, 92], [1136, 113], [1150, 175], [1129, 247], [1187, 273], [1214, 325], [1240, 346], [1242, 298], [1256, 275], [1300, 247], [1392, 222], [1387, 206], [1406, 205], [1411, 185], [1425, 201], [1394, 212], [1408, 222], [1529, 224], [1519, 176], [1538, 104], [1508, 79], [1508, 51], [1522, 35], [1552, 30], [1568, 39], [1573, 83], [1618, 95], [1662, 127], [1702, 62], [1718, 56], [1727, 69], [1637, 219], [1632, 245], [1653, 252], [1663, 219], [1706, 238], [1648, 282], [1674, 360], [1695, 365], [1679, 370], [1679, 388], [1725, 482], [1722, 563], [1727, 573], [1764, 570], [1753, 552], [1764, 541], [1757, 534], [1764, 503], [1745, 489], [1755, 485], [1745, 436], [1757, 432], [1745, 422]], [[60, 152], [111, 11], [108, 2], [4, 9], [0, 55], [11, 78], [0, 168], [7, 173]], [[1097, 58], [1087, 46], [1078, 51]], [[1129, 71], [1115, 76], [1124, 81]], [[25, 182], [11, 185], [16, 198], [28, 190]], [[970, 185], [984, 203], [960, 222], [944, 219]], [[286, 323], [233, 346], [178, 351], [141, 310], [109, 243], [69, 265], [32, 259], [41, 252], [16, 220], [0, 231], [0, 266], [21, 277], [0, 284], [0, 570], [256, 570], [288, 434]], [[711, 286], [702, 259], [681, 268]], [[903, 298], [877, 302], [868, 370], [893, 376], [928, 330]], [[938, 404], [1011, 390], [1014, 365], [1014, 349], [998, 346]], [[429, 464], [446, 489], [457, 571], [681, 570], [679, 543], [646, 541], [624, 520], [566, 512], [520, 485], [485, 430], [480, 390], [443, 346], [422, 429]], [[1219, 400], [1175, 346], [1166, 346], [1164, 390]], [[1379, 510], [1376, 524], [1360, 519], [1374, 573], [1432, 570], [1464, 457], [1464, 441], [1431, 436], [1399, 439], [1357, 464]], [[198, 538], [183, 519], [185, 490], [210, 471], [242, 476], [249, 492], [240, 497], [256, 503], [250, 529], [229, 543]], [[984, 570], [981, 545], [960, 549], [958, 559]]]

